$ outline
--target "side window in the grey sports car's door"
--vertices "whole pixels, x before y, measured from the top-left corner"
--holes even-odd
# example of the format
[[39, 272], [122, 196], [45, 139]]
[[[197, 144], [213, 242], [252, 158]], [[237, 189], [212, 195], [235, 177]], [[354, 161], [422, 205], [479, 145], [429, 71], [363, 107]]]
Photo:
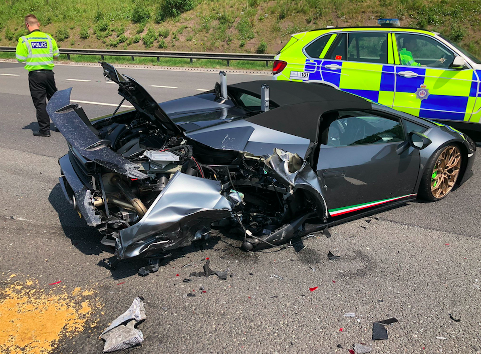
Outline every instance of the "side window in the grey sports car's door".
[[327, 145], [352, 146], [404, 141], [398, 119], [381, 117], [370, 112], [340, 111], [329, 124]]

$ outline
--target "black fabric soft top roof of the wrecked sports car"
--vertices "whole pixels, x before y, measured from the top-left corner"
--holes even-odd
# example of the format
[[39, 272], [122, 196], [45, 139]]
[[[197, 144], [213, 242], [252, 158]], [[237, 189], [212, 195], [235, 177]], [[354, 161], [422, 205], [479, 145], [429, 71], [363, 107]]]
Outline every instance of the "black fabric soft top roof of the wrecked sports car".
[[279, 106], [246, 120], [284, 133], [318, 140], [320, 117], [329, 111], [371, 109], [369, 101], [318, 83], [258, 80], [228, 85], [228, 90], [261, 97], [261, 86], [269, 85], [269, 97]]

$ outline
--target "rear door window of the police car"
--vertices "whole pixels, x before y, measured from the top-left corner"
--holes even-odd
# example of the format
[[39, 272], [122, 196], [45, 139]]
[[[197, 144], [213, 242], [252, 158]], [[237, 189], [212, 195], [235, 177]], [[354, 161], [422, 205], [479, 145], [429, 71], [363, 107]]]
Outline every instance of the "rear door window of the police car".
[[387, 64], [387, 33], [349, 33], [347, 60]]

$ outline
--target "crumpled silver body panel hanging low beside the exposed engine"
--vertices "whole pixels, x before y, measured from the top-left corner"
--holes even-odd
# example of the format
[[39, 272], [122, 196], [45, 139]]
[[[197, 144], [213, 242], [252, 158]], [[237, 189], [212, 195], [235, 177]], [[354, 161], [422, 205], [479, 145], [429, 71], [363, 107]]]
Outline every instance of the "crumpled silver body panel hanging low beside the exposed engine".
[[198, 230], [230, 216], [231, 204], [220, 190], [218, 181], [176, 172], [142, 219], [120, 231], [116, 254], [124, 259], [190, 244]]

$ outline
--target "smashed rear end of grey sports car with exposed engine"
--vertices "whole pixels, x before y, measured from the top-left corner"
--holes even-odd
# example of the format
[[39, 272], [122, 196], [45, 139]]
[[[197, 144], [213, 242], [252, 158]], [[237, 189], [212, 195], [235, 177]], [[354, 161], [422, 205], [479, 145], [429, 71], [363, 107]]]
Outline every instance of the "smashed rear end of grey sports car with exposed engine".
[[69, 143], [59, 160], [64, 193], [119, 259], [161, 256], [208, 238], [212, 227], [238, 228], [247, 250], [275, 246], [309, 218], [327, 219], [319, 179], [298, 154], [255, 156], [195, 141], [133, 79], [102, 64], [135, 110], [92, 125], [70, 104], [70, 89], [48, 109]]

